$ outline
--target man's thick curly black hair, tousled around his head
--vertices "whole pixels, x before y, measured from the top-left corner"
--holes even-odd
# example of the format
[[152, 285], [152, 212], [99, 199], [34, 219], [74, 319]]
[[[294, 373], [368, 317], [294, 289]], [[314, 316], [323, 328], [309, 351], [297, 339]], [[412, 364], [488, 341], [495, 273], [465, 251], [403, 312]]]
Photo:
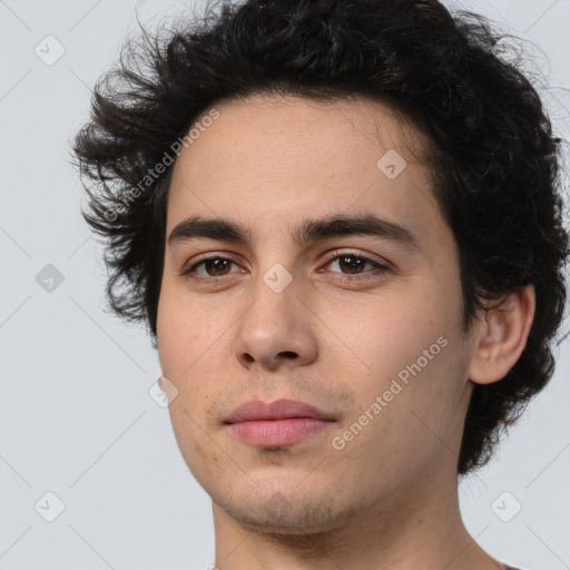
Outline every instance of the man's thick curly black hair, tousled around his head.
[[[390, 105], [430, 141], [433, 193], [460, 250], [464, 332], [487, 302], [528, 284], [535, 291], [520, 358], [471, 396], [458, 474], [479, 469], [553, 374], [566, 302], [561, 139], [520, 58], [499, 57], [507, 35], [485, 18], [451, 14], [436, 0], [218, 8], [127, 41], [75, 139], [89, 198], [82, 215], [107, 244], [111, 309], [145, 321], [157, 346], [173, 170], [166, 157], [207, 109], [261, 92]], [[159, 164], [167, 166], [157, 174]]]

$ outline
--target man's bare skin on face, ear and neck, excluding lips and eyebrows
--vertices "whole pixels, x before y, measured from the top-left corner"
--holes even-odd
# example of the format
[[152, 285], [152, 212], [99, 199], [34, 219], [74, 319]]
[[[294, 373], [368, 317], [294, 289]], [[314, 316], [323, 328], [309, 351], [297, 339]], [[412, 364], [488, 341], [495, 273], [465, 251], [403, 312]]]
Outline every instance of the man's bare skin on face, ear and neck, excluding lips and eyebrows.
[[[524, 348], [532, 287], [462, 334], [456, 244], [417, 159], [426, 140], [384, 104], [257, 94], [216, 109], [174, 166], [166, 235], [199, 214], [239, 222], [252, 239], [167, 244], [157, 323], [163, 375], [178, 391], [175, 436], [213, 500], [216, 567], [500, 569], [461, 520], [456, 462], [474, 384], [500, 381]], [[394, 179], [376, 166], [389, 149], [407, 161]], [[361, 235], [293, 240], [306, 218], [370, 213], [409, 228], [420, 248]], [[335, 257], [341, 248], [389, 269], [358, 273]], [[204, 254], [234, 263], [181, 275]], [[276, 263], [292, 277], [281, 293], [263, 279]], [[439, 337], [439, 354], [335, 449]], [[281, 449], [224, 424], [245, 401], [282, 397], [336, 421]]]

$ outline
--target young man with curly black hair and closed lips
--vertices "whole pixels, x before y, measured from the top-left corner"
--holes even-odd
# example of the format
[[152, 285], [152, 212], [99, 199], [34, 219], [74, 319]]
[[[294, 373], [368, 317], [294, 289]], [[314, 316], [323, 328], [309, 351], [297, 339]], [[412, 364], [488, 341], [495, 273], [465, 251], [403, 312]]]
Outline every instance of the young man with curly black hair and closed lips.
[[553, 371], [568, 235], [538, 95], [434, 0], [203, 23], [99, 83], [76, 153], [216, 568], [510, 568], [458, 475]]

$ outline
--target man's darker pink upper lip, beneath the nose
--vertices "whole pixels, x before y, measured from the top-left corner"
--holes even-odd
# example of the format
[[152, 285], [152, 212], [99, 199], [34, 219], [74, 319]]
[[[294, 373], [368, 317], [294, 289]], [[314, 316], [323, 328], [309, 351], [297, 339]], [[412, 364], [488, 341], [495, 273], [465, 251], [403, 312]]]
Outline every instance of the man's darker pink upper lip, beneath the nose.
[[311, 417], [314, 420], [334, 421], [326, 412], [295, 400], [276, 400], [264, 402], [249, 400], [238, 405], [225, 423], [250, 422], [262, 420], [287, 420], [291, 417]]

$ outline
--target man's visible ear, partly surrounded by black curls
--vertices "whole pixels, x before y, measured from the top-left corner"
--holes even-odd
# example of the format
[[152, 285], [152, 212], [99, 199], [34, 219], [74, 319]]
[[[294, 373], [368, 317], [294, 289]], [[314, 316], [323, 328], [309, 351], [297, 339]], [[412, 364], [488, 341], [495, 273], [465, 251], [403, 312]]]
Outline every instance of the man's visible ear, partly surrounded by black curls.
[[476, 328], [468, 377], [476, 384], [503, 379], [517, 364], [534, 318], [534, 286], [529, 284], [488, 307]]

